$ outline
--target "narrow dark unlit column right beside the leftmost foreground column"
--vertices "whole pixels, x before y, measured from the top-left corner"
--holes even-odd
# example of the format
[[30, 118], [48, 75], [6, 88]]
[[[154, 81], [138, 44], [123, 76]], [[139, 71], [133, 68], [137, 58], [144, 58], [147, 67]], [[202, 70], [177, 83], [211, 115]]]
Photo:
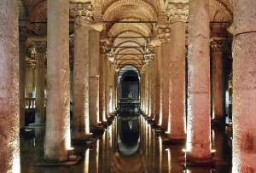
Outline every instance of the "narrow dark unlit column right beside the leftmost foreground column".
[[20, 130], [25, 128], [25, 86], [26, 86], [26, 21], [20, 21], [19, 34], [20, 72]]

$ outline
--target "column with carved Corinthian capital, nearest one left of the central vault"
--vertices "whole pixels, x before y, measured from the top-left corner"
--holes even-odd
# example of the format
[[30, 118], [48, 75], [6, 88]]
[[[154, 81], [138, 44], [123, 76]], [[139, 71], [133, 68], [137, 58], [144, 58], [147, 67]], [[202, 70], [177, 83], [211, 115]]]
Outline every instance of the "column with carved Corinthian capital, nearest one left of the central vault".
[[[92, 12], [90, 3], [74, 4], [74, 61], [73, 61], [73, 121], [74, 138], [84, 139], [90, 134], [89, 120], [89, 31]], [[96, 53], [95, 53], [96, 54]], [[96, 116], [96, 115], [95, 115]]]

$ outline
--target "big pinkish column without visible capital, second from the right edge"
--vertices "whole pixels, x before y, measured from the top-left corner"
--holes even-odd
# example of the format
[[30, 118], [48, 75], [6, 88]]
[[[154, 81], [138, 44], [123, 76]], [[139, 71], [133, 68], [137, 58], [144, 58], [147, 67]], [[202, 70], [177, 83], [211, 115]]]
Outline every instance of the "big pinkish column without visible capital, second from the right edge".
[[187, 160], [198, 163], [212, 161], [209, 22], [209, 0], [189, 0]]

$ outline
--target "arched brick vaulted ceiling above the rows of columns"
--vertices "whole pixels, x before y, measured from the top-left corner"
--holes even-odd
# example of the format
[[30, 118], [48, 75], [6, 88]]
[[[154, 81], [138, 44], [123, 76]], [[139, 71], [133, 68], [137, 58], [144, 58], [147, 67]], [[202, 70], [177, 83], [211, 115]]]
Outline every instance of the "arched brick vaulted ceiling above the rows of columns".
[[[88, 1], [88, 0], [86, 0]], [[234, 0], [210, 0], [210, 20], [212, 21], [212, 36], [214, 34], [227, 34], [226, 28], [233, 20]], [[165, 14], [164, 0], [93, 0], [95, 20], [97, 21], [157, 21]], [[47, 0], [20, 0], [21, 9], [26, 10], [26, 19], [30, 22], [47, 21]], [[165, 18], [164, 18], [165, 19]], [[72, 20], [72, 19], [71, 19]], [[105, 37], [110, 37], [113, 51], [116, 54], [115, 62], [118, 64], [143, 63], [143, 55], [148, 43], [148, 38], [129, 37], [152, 37], [154, 35], [154, 23], [104, 23]], [[33, 24], [32, 33], [46, 35], [47, 25]], [[71, 26], [71, 34], [73, 26]], [[127, 37], [127, 38], [115, 38]], [[120, 48], [121, 47], [121, 48]], [[134, 48], [122, 48], [134, 47]], [[131, 54], [131, 55], [126, 55]], [[135, 55], [134, 55], [135, 54]], [[137, 55], [136, 55], [137, 54]]]

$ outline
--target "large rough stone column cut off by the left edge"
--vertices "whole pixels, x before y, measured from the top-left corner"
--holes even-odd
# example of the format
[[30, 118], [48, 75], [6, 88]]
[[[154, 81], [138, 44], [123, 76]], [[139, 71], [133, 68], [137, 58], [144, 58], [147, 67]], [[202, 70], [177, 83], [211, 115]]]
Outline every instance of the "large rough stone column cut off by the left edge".
[[20, 172], [18, 1], [0, 8], [0, 172]]

